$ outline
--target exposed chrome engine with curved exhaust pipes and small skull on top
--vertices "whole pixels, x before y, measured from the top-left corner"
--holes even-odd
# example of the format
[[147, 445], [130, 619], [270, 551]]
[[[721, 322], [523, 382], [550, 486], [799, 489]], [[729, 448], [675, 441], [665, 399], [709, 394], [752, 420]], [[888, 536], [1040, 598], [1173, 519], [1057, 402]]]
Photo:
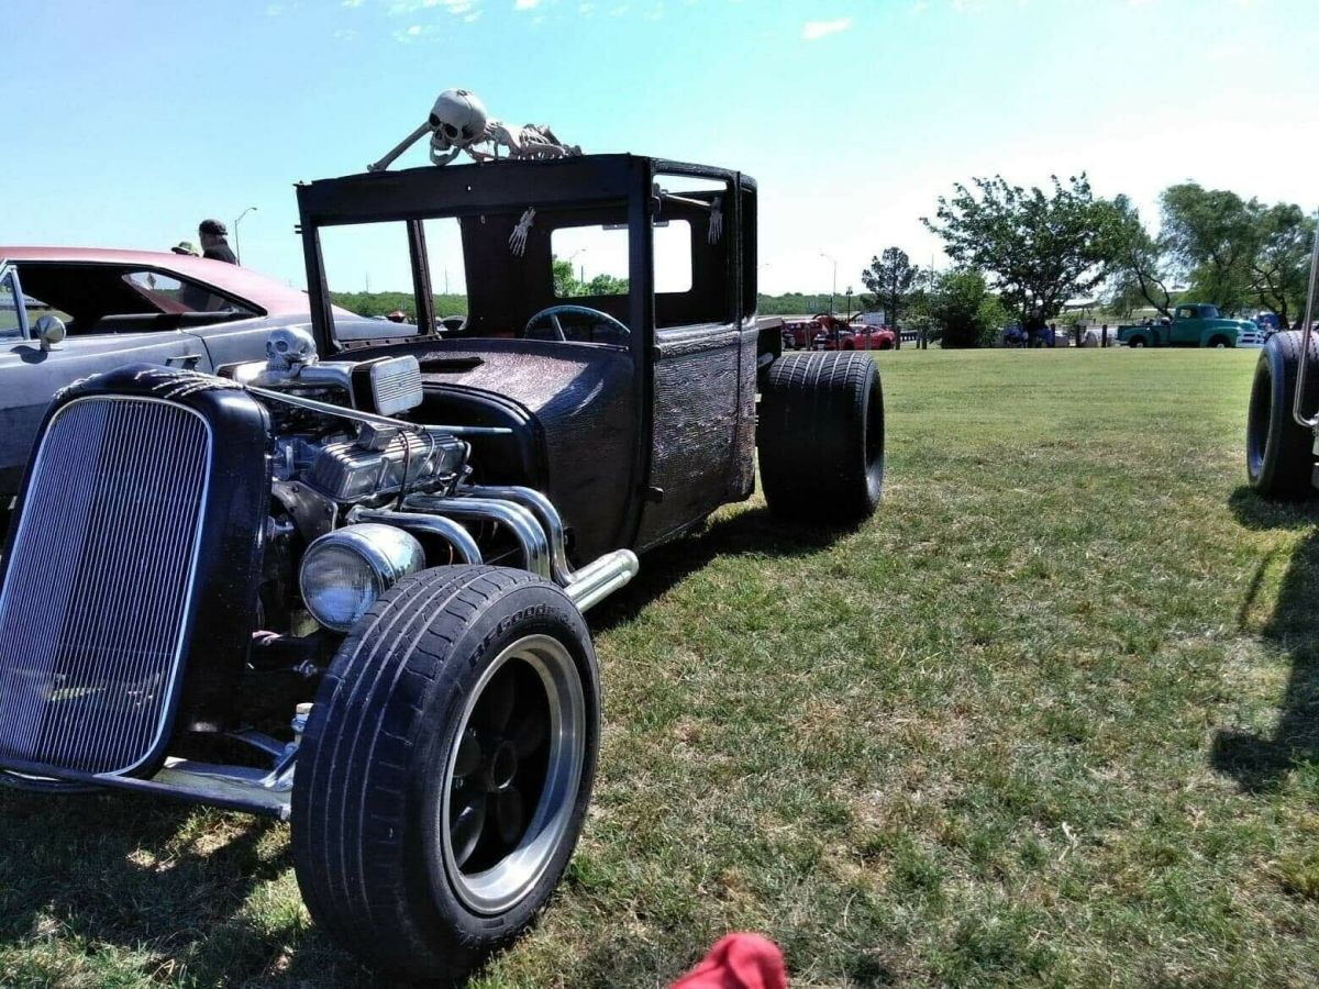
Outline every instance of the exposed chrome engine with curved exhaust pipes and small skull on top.
[[[270, 520], [266, 617], [282, 614], [273, 629], [298, 628], [297, 612], [277, 605], [297, 583], [311, 617], [343, 629], [343, 616], [327, 620], [318, 608], [318, 574], [310, 560], [330, 549], [365, 560], [368, 527], [392, 525], [442, 549], [437, 563], [492, 562], [517, 566], [554, 580], [580, 608], [628, 583], [637, 572], [629, 550], [605, 554], [580, 570], [567, 560], [565, 524], [541, 492], [467, 483], [471, 447], [464, 435], [506, 430], [429, 426], [404, 418], [425, 398], [413, 356], [365, 361], [319, 361], [310, 334], [298, 327], [274, 330], [264, 364], [237, 368], [233, 377], [268, 407], [276, 431], [276, 506]], [[351, 531], [350, 531], [351, 530]], [[301, 537], [301, 545], [294, 535]], [[385, 547], [380, 558], [386, 559]], [[493, 555], [491, 555], [493, 554]], [[380, 563], [372, 579], [388, 576]], [[390, 570], [390, 574], [394, 571]], [[272, 589], [273, 588], [273, 589]]]

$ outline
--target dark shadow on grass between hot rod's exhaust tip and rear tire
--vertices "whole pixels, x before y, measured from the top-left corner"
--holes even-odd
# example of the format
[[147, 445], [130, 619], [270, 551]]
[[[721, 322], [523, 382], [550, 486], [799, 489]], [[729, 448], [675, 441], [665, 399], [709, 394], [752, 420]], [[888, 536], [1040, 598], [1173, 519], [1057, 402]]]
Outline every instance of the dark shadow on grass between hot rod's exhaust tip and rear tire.
[[764, 505], [718, 518], [641, 558], [641, 572], [591, 612], [604, 632], [636, 617], [689, 574], [715, 556], [805, 556], [844, 538], [855, 527], [802, 525], [774, 518]]

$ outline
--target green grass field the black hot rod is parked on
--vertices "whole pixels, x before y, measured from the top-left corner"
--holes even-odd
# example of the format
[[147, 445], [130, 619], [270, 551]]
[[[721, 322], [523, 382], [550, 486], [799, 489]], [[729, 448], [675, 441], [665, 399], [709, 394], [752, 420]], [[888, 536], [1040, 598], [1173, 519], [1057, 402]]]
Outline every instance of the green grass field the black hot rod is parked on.
[[[592, 613], [596, 798], [481, 986], [1319, 984], [1319, 512], [1242, 488], [1253, 352], [881, 355], [836, 539], [757, 498]], [[7, 985], [365, 985], [286, 827], [0, 795]]]

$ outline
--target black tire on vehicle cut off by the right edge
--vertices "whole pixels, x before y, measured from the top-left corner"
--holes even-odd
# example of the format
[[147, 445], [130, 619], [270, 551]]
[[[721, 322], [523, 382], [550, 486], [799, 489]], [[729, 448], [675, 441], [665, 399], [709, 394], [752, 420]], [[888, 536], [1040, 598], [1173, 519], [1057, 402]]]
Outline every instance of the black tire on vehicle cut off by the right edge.
[[[1274, 334], [1264, 344], [1250, 386], [1245, 427], [1245, 472], [1250, 487], [1268, 498], [1303, 498], [1314, 493], [1314, 434], [1291, 417], [1301, 368], [1301, 331]], [[1304, 409], [1319, 411], [1319, 360], [1306, 367]]]

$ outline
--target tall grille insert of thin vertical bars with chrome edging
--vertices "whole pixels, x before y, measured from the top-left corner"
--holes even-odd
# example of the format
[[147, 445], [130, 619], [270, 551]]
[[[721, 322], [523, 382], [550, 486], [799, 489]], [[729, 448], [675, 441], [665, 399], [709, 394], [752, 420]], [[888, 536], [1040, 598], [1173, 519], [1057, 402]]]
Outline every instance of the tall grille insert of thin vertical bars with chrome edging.
[[182, 669], [210, 427], [150, 398], [50, 421], [0, 591], [0, 762], [125, 773], [152, 756]]

